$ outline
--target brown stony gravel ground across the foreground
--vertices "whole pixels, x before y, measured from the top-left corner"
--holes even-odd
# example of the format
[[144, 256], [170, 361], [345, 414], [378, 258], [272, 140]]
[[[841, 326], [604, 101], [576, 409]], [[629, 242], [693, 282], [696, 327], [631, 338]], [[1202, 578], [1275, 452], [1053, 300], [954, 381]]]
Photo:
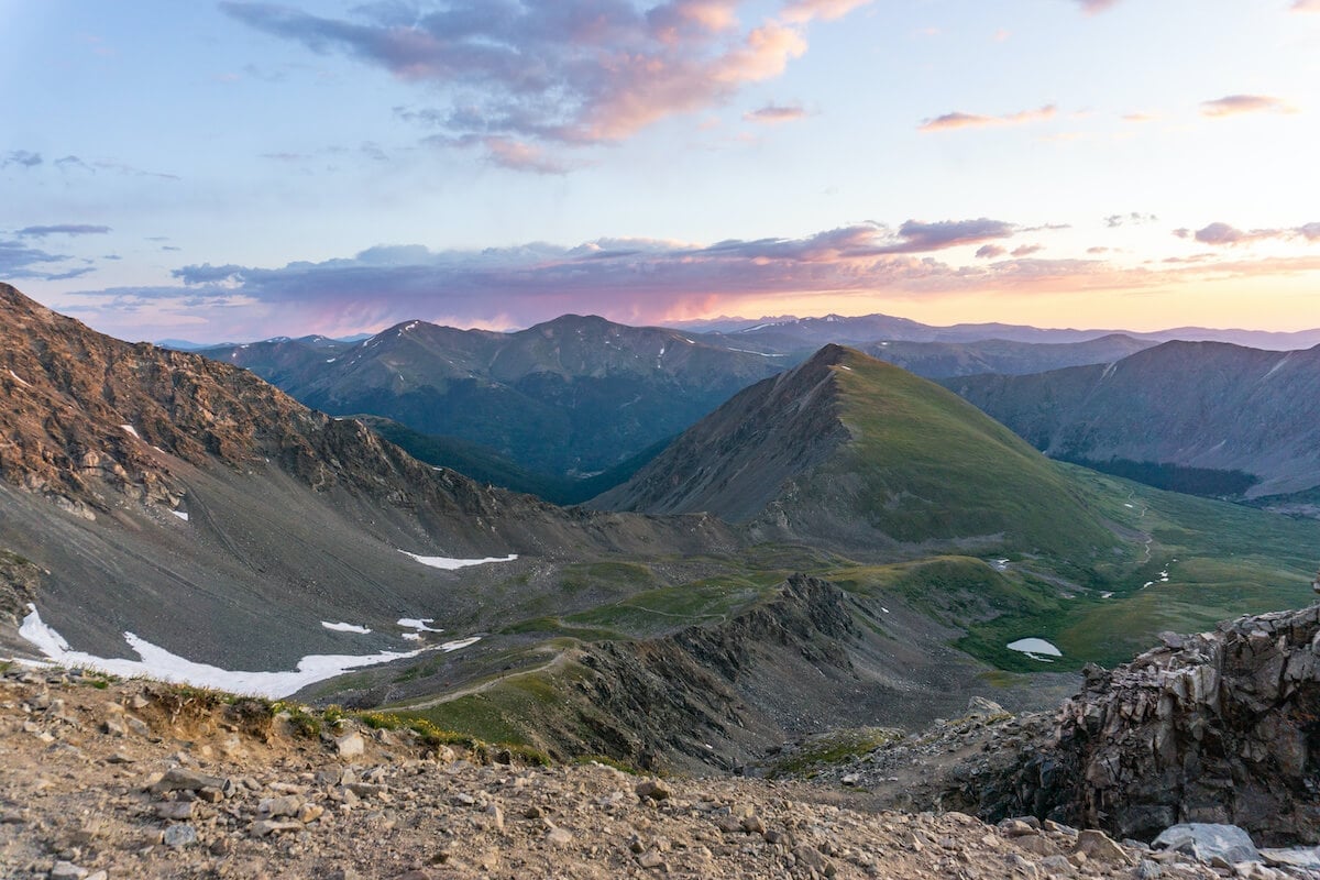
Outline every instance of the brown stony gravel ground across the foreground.
[[333, 720], [11, 668], [0, 676], [0, 876], [1309, 876], [1214, 868], [1048, 821], [870, 810], [805, 782], [527, 765]]

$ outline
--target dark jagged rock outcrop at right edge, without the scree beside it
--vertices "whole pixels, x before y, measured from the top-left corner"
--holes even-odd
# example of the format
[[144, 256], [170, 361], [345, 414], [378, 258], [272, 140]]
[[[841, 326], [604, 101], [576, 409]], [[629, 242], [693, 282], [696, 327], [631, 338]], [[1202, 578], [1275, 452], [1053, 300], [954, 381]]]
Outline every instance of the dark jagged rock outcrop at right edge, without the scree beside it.
[[1019, 752], [981, 810], [1147, 839], [1218, 822], [1263, 843], [1320, 842], [1320, 606], [1163, 643], [1089, 669], [1053, 741]]

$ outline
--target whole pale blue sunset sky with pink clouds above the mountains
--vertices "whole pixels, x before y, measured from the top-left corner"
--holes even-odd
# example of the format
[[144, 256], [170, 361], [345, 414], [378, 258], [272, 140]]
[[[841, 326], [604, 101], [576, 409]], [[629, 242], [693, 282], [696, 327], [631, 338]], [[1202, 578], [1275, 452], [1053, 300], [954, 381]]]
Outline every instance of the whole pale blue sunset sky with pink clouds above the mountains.
[[0, 0], [0, 280], [125, 339], [1320, 326], [1320, 0]]

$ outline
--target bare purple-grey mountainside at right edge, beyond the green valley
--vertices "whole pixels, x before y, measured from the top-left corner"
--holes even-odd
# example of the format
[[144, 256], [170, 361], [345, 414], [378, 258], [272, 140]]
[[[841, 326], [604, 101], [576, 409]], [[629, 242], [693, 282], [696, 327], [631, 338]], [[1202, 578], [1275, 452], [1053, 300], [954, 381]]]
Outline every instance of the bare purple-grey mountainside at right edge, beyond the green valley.
[[1320, 347], [1171, 342], [1105, 367], [945, 383], [1053, 458], [1247, 499], [1320, 486]]

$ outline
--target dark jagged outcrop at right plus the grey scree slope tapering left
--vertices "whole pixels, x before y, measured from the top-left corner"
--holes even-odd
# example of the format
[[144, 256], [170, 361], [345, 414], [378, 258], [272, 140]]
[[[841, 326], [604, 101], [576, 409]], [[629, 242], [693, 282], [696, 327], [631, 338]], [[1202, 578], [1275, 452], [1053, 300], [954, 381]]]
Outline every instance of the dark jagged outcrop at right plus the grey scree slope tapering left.
[[1164, 633], [1129, 664], [1088, 668], [1056, 714], [995, 708], [816, 776], [886, 806], [1031, 814], [1117, 838], [1221, 823], [1267, 846], [1320, 843], [1320, 606]]

